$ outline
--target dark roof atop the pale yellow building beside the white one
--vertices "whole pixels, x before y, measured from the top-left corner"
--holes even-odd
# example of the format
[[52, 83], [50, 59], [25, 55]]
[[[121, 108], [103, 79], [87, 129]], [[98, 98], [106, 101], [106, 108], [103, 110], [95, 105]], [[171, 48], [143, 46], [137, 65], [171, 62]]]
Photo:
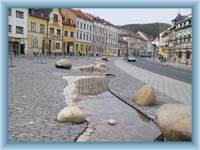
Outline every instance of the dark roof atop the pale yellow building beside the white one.
[[52, 9], [49, 8], [29, 8], [29, 16], [34, 16], [42, 19], [49, 19], [49, 14]]

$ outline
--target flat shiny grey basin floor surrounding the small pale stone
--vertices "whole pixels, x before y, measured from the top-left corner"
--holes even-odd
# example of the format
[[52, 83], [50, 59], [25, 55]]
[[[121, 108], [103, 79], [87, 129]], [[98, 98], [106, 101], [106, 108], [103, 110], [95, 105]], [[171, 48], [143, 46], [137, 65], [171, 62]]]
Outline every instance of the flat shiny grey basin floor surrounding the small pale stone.
[[[154, 141], [161, 134], [153, 121], [108, 91], [83, 97], [79, 106], [86, 113], [89, 125], [94, 127], [89, 141]], [[117, 124], [109, 125], [109, 119], [114, 119]]]

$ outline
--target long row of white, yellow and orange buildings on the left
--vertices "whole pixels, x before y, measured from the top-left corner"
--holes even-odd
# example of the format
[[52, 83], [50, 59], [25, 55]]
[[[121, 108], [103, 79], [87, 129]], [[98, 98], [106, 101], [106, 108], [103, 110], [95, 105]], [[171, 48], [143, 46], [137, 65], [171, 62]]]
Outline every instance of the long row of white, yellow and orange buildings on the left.
[[81, 10], [9, 9], [8, 16], [9, 50], [16, 54], [118, 56], [122, 53], [118, 28]]

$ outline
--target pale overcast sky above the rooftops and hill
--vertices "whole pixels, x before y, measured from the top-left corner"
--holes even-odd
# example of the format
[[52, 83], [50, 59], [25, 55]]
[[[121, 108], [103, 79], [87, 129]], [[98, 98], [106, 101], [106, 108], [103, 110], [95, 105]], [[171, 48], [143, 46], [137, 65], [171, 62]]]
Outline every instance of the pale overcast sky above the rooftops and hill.
[[190, 8], [81, 8], [81, 10], [102, 17], [115, 25], [155, 22], [170, 24], [178, 12], [182, 15], [188, 15], [192, 12]]

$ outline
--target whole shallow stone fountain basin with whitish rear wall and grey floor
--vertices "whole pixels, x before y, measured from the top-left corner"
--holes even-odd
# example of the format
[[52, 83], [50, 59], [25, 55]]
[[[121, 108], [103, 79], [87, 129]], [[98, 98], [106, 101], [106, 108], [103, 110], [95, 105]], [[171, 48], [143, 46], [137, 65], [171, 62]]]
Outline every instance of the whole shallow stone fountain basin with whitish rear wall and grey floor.
[[[93, 126], [92, 133], [83, 133], [77, 141], [154, 141], [161, 135], [159, 127], [107, 90], [112, 78], [113, 75], [63, 77], [67, 81], [67, 105], [79, 106], [88, 126]], [[109, 125], [109, 119], [117, 124]]]

